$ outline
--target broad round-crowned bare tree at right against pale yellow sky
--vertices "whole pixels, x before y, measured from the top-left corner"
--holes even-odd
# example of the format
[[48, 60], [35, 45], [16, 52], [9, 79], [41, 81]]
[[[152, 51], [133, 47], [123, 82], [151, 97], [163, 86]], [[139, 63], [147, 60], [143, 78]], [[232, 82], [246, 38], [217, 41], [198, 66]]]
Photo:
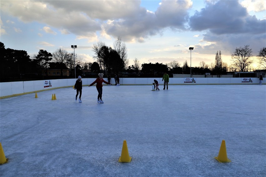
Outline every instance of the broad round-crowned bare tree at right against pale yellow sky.
[[253, 63], [252, 49], [249, 49], [249, 45], [244, 47], [236, 48], [234, 53], [231, 55], [233, 65], [239, 69], [241, 72], [244, 72], [248, 69], [249, 65]]

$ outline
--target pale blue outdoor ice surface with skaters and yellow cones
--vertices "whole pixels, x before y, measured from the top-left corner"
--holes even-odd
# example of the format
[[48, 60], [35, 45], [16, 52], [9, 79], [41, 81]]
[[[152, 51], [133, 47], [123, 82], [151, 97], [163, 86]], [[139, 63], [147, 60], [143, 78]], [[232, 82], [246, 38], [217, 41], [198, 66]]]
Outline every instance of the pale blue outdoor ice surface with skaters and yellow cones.
[[0, 176], [266, 176], [266, 85], [151, 86], [104, 85], [101, 104], [95, 86], [82, 103], [73, 88], [1, 99]]

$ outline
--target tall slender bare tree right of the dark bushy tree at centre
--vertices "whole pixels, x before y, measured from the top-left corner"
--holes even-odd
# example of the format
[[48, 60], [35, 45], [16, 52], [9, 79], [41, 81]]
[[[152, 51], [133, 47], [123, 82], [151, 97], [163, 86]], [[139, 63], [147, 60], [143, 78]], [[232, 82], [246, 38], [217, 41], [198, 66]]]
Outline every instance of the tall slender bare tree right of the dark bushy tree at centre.
[[114, 42], [114, 50], [119, 54], [120, 58], [123, 60], [124, 69], [126, 69], [128, 65], [128, 58], [127, 58], [127, 48], [126, 43], [122, 42], [121, 37], [118, 36], [116, 41]]

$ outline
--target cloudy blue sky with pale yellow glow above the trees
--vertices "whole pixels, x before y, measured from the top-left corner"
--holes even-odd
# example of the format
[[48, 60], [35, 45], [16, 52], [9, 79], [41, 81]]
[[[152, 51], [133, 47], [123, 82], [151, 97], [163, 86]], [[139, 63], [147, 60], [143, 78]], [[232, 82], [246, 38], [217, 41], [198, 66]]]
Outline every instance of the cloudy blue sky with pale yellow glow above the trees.
[[[230, 65], [234, 50], [249, 45], [252, 55], [266, 46], [266, 1], [0, 1], [1, 36], [5, 48], [63, 48], [83, 62], [94, 62], [93, 44], [125, 42], [129, 65], [187, 60], [210, 65], [221, 50]], [[194, 47], [190, 51], [189, 47]], [[191, 56], [190, 56], [191, 55]], [[251, 69], [259, 69], [257, 58]]]

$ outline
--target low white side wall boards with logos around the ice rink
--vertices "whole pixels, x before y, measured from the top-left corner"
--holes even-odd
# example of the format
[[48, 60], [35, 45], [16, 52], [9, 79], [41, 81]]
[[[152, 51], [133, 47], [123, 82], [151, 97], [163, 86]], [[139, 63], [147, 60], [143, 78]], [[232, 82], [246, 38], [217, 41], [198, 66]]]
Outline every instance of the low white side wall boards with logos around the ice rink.
[[[120, 85], [152, 85], [156, 79], [159, 85], [163, 85], [162, 78], [120, 78]], [[192, 78], [169, 78], [169, 85], [185, 85], [185, 84], [259, 84], [259, 78], [194, 78], [194, 83], [187, 83], [187, 80]], [[252, 82], [242, 82], [243, 79], [251, 79]], [[107, 78], [104, 78], [108, 81]], [[20, 81], [20, 82], [2, 82], [0, 83], [0, 99], [12, 96], [18, 96], [28, 93], [36, 93], [45, 90], [59, 89], [65, 87], [73, 87], [76, 79], [51, 79], [51, 87], [44, 87], [44, 80], [35, 81]], [[88, 86], [94, 82], [94, 78], [82, 79], [82, 85]], [[103, 83], [104, 84], [104, 83]], [[114, 79], [111, 79], [111, 84], [115, 84]], [[262, 81], [265, 84], [265, 79]], [[94, 84], [95, 86], [96, 84]]]

